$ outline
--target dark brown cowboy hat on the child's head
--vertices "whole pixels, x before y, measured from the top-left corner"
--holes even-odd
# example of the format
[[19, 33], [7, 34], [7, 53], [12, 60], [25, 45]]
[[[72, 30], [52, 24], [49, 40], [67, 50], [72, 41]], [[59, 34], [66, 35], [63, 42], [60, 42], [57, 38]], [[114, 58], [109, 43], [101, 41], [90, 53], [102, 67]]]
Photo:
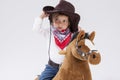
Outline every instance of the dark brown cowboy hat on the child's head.
[[56, 7], [45, 6], [43, 11], [50, 14], [49, 19], [51, 20], [51, 15], [53, 13], [62, 13], [69, 17], [70, 19], [70, 30], [71, 32], [78, 31], [78, 23], [80, 20], [80, 15], [75, 13], [74, 6], [65, 0], [60, 0], [59, 4]]

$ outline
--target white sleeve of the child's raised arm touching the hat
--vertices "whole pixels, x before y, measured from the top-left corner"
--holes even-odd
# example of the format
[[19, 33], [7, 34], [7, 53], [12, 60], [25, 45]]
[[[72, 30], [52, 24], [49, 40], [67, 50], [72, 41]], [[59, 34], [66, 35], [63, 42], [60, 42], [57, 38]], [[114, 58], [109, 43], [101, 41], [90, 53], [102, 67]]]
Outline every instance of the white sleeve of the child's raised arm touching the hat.
[[43, 23], [43, 19], [41, 19], [40, 17], [36, 17], [33, 23], [32, 31], [40, 33], [43, 36], [47, 36], [49, 35], [50, 29], [49, 28], [45, 29], [42, 23]]

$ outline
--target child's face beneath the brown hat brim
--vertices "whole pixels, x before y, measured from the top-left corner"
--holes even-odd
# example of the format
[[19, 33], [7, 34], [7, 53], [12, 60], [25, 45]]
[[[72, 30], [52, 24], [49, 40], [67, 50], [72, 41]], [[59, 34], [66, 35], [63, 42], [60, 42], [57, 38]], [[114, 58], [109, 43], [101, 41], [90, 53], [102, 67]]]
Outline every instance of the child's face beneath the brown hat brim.
[[56, 14], [52, 20], [53, 26], [59, 31], [65, 30], [69, 26], [69, 19], [66, 15]]

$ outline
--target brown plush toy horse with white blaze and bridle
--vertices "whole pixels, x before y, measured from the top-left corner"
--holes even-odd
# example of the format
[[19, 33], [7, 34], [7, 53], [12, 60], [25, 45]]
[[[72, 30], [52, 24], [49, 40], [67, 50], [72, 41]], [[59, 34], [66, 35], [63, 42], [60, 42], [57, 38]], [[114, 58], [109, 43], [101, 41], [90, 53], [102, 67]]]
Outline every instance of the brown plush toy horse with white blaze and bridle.
[[60, 54], [64, 61], [53, 80], [92, 80], [89, 63], [96, 65], [101, 61], [100, 53], [94, 48], [95, 32], [86, 35], [83, 30]]

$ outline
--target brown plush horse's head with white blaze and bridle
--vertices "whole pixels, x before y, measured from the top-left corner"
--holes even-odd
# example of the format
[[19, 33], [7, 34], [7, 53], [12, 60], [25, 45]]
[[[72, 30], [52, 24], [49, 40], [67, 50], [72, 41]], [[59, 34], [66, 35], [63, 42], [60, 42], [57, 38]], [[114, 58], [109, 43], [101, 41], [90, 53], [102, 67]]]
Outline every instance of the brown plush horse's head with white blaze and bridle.
[[95, 31], [90, 34], [81, 30], [77, 37], [68, 45], [66, 51], [61, 53], [71, 53], [75, 58], [81, 61], [88, 61], [90, 64], [98, 64], [101, 61], [101, 56], [94, 45]]

